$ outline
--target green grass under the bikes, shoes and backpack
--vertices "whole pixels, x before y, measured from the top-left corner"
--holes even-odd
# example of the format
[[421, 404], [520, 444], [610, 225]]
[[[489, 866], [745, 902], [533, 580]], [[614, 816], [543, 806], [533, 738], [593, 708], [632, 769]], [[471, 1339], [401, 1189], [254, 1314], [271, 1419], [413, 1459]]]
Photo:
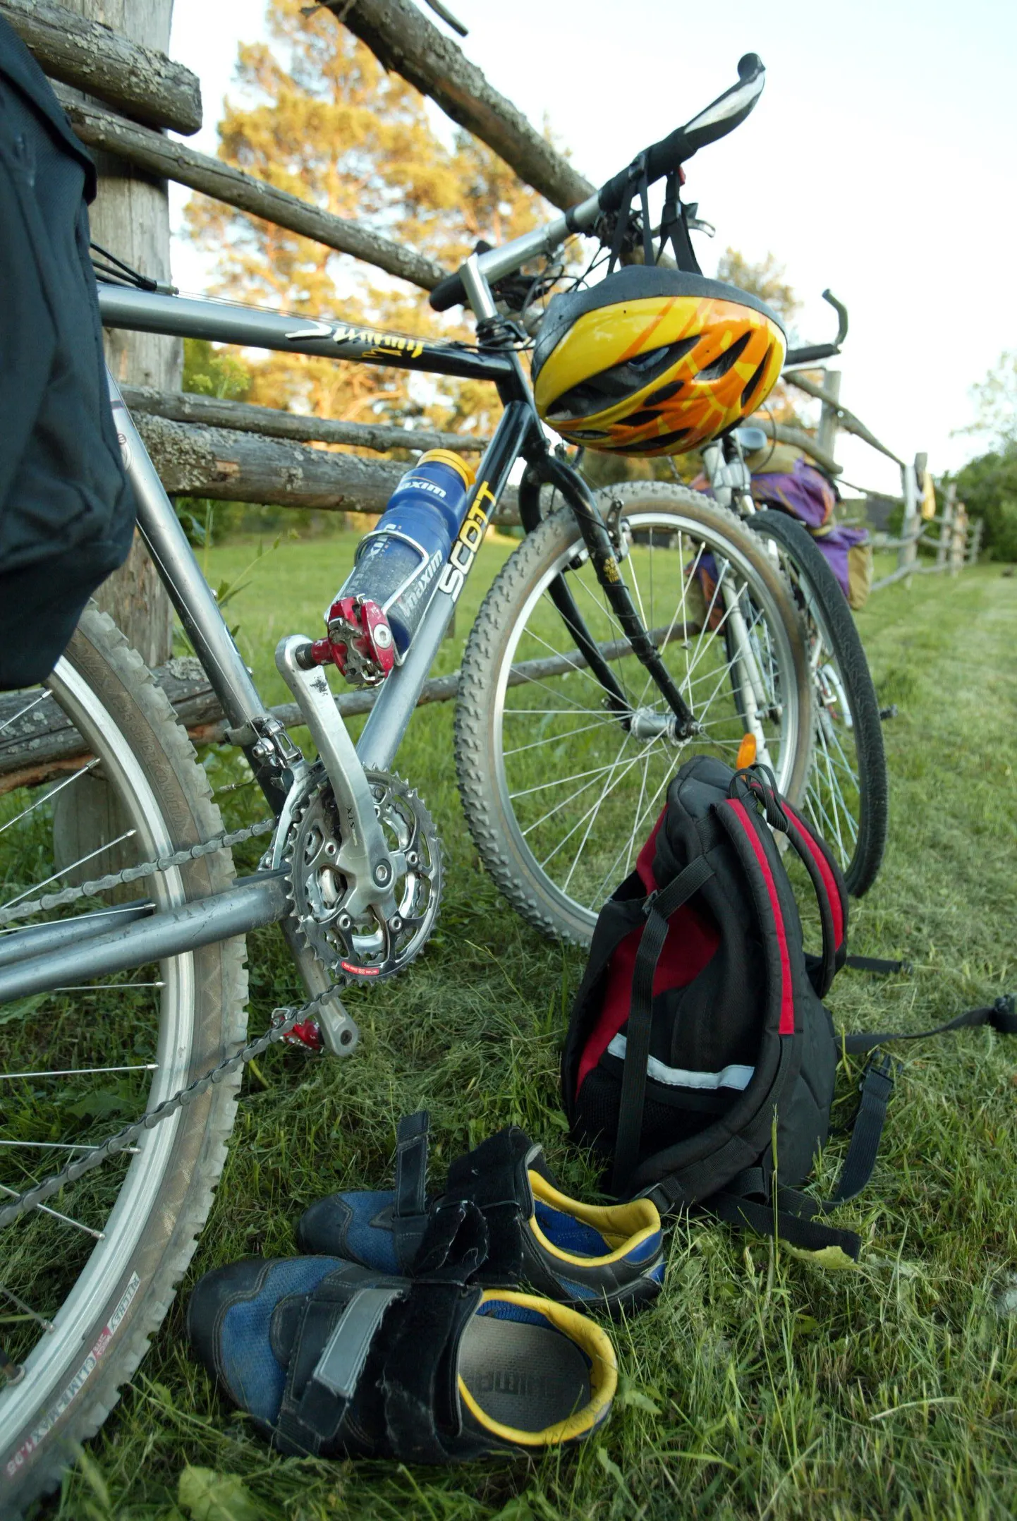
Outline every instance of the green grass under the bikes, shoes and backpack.
[[[509, 549], [485, 546], [488, 569]], [[271, 700], [284, 697], [275, 640], [318, 630], [351, 551], [353, 540], [283, 546], [231, 602]], [[213, 578], [234, 578], [251, 554], [213, 551]], [[479, 580], [467, 587], [474, 604]], [[458, 665], [470, 613], [461, 605], [438, 669]], [[908, 957], [914, 972], [845, 972], [828, 1004], [839, 1027], [924, 1028], [1017, 987], [1017, 581], [996, 566], [917, 578], [879, 593], [860, 627], [880, 700], [898, 716], [886, 726], [888, 856], [853, 907], [851, 945]], [[234, 779], [219, 753], [205, 764], [216, 785]], [[566, 1186], [596, 1186], [567, 1142], [556, 1089], [582, 957], [534, 934], [480, 870], [455, 792], [451, 704], [413, 718], [400, 771], [442, 832], [438, 932], [404, 978], [350, 996], [356, 1057], [275, 1048], [246, 1078], [189, 1282], [239, 1255], [292, 1253], [299, 1211], [322, 1192], [385, 1185], [395, 1121], [418, 1106], [432, 1112], [438, 1174], [518, 1122]], [[231, 820], [254, 808], [243, 789], [222, 802]], [[274, 932], [249, 938], [249, 960], [251, 1018], [263, 1028], [296, 989]], [[862, 1234], [860, 1265], [828, 1272], [702, 1220], [675, 1226], [664, 1294], [616, 1329], [614, 1415], [579, 1451], [447, 1472], [280, 1460], [190, 1358], [181, 1293], [47, 1513], [181, 1518], [179, 1477], [196, 1465], [237, 1475], [219, 1509], [190, 1512], [210, 1521], [1017, 1515], [1017, 1320], [1006, 1313], [1017, 1299], [1017, 1045], [981, 1030], [898, 1054], [874, 1179], [833, 1217]], [[851, 1062], [841, 1074], [842, 1116], [857, 1072]], [[828, 1145], [819, 1188], [842, 1153], [842, 1141]]]

